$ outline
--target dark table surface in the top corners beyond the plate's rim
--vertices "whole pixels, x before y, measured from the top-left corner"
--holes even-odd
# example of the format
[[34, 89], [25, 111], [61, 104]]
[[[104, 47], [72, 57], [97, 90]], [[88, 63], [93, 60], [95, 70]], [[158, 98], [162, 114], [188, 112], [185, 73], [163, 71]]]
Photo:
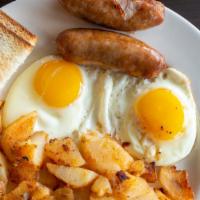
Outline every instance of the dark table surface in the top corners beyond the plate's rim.
[[[12, 0], [0, 0], [0, 7]], [[200, 0], [161, 0], [200, 29]]]

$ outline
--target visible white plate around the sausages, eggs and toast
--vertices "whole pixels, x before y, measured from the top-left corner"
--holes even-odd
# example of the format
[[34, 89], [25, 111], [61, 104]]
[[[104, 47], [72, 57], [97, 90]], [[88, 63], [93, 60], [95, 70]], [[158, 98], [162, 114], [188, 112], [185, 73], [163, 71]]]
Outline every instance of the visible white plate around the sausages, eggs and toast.
[[[55, 38], [62, 30], [72, 27], [98, 27], [69, 15], [56, 0], [17, 0], [3, 10], [39, 38], [36, 48], [18, 73], [33, 60], [54, 53]], [[181, 16], [167, 9], [165, 22], [162, 25], [134, 35], [158, 49], [166, 57], [170, 66], [188, 75], [199, 109], [200, 31]], [[200, 199], [200, 144], [197, 143], [199, 140], [192, 153], [178, 163], [178, 166], [188, 170], [196, 198]]]

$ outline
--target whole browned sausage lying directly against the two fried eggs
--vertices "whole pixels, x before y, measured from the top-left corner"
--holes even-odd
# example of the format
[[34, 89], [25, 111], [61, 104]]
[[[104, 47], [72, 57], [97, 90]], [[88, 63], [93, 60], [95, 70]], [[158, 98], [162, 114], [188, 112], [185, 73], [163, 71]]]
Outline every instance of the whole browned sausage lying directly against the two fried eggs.
[[154, 78], [167, 65], [155, 49], [135, 38], [103, 30], [69, 29], [57, 38], [58, 52], [77, 64], [97, 65], [103, 69]]

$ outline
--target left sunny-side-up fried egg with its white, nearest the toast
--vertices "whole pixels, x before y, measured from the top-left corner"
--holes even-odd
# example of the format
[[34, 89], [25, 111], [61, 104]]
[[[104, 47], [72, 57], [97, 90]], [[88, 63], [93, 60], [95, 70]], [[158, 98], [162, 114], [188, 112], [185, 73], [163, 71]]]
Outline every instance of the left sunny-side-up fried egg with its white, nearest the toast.
[[37, 111], [35, 131], [44, 130], [50, 138], [71, 134], [91, 109], [96, 75], [95, 70], [83, 70], [57, 56], [36, 61], [18, 76], [8, 92], [4, 126]]

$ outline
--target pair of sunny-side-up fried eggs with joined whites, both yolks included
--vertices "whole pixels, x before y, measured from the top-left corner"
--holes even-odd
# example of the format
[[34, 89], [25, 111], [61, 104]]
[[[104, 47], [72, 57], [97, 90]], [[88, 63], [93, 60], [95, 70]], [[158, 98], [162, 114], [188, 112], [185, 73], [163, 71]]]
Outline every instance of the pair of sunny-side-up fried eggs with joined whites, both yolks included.
[[37, 111], [35, 131], [50, 138], [100, 131], [137, 158], [173, 164], [191, 151], [196, 108], [187, 77], [167, 69], [154, 80], [78, 66], [57, 56], [33, 63], [13, 83], [3, 125]]

